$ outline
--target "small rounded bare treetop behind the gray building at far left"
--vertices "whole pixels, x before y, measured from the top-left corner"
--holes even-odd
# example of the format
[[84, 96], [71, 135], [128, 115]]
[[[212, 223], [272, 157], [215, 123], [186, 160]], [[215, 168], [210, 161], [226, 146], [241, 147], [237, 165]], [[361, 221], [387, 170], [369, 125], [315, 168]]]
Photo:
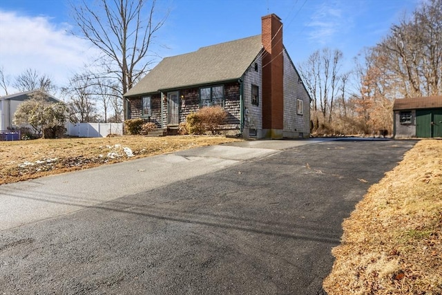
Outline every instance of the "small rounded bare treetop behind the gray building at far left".
[[37, 70], [32, 70], [32, 68], [28, 68], [18, 75], [12, 86], [23, 92], [39, 89], [44, 93], [54, 93], [57, 89], [50, 77], [39, 74]]

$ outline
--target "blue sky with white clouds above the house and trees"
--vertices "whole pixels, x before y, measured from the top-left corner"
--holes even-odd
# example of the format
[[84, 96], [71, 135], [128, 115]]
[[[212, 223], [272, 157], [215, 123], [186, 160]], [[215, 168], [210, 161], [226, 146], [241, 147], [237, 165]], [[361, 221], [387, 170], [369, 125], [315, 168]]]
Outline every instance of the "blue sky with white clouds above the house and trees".
[[[160, 15], [171, 11], [153, 50], [167, 57], [259, 35], [261, 17], [275, 13], [284, 23], [284, 44], [296, 65], [328, 47], [343, 51], [345, 68], [350, 68], [353, 57], [381, 41], [390, 26], [421, 1], [157, 0]], [[67, 32], [72, 23], [69, 13], [67, 0], [0, 0], [3, 73], [13, 78], [33, 68], [59, 86], [66, 84], [95, 56], [86, 41]]]

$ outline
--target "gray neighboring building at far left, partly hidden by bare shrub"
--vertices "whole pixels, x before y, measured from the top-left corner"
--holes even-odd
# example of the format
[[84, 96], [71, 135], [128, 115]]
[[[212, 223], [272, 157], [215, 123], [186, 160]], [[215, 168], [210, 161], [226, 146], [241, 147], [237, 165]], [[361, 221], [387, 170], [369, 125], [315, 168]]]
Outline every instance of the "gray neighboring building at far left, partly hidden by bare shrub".
[[[31, 99], [32, 94], [37, 91], [40, 90], [26, 91], [0, 97], [0, 131], [15, 129], [12, 122], [12, 120], [14, 120], [15, 111], [17, 111], [17, 108], [21, 103]], [[49, 102], [61, 102], [61, 100], [53, 97], [50, 94], [44, 93], [44, 95], [47, 97]]]

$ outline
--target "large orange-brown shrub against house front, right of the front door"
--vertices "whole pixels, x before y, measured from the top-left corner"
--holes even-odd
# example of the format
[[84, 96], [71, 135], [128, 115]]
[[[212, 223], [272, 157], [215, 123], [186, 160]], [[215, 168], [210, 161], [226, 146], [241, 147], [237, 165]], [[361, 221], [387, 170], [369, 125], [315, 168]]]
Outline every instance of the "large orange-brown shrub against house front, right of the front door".
[[220, 132], [220, 126], [226, 117], [226, 111], [220, 106], [201, 108], [197, 113], [187, 115], [187, 131], [193, 134], [204, 134], [206, 131], [211, 131], [212, 134], [218, 134]]

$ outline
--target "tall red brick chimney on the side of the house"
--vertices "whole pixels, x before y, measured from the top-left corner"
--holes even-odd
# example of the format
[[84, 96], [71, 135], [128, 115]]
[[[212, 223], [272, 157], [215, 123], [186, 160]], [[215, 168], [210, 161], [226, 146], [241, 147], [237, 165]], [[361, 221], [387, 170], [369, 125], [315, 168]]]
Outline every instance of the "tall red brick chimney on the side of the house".
[[284, 55], [282, 22], [274, 14], [262, 21], [262, 129], [265, 137], [282, 138], [284, 128]]

